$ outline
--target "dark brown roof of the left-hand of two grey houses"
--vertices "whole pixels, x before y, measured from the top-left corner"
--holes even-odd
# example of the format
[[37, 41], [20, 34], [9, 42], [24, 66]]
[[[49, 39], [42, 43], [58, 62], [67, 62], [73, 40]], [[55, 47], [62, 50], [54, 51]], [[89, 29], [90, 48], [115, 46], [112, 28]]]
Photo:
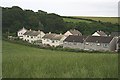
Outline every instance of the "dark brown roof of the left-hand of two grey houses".
[[83, 43], [83, 41], [86, 39], [87, 36], [77, 36], [77, 35], [69, 35], [65, 41], [67, 42], [80, 42]]

